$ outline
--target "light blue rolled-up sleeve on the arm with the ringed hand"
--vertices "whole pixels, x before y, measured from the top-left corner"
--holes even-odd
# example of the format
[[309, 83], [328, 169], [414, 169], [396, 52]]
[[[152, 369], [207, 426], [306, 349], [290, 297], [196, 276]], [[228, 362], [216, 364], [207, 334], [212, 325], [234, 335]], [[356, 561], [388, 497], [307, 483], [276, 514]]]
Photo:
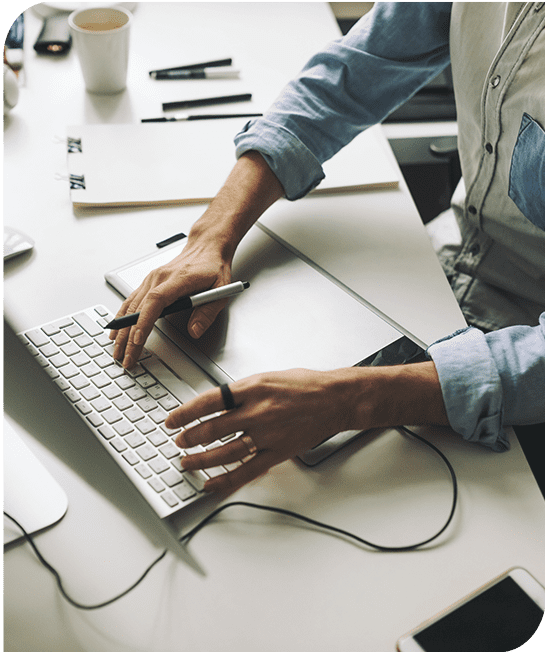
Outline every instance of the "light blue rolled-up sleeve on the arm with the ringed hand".
[[504, 426], [545, 422], [545, 312], [538, 326], [458, 331], [428, 348], [449, 423], [464, 439], [509, 450]]

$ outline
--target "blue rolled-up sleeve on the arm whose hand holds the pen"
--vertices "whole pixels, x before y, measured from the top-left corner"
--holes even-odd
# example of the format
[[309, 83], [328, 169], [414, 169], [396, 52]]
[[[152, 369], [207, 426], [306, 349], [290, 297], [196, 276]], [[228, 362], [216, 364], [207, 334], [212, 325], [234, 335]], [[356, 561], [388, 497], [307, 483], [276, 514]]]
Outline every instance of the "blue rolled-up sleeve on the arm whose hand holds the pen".
[[286, 197], [303, 197], [324, 178], [322, 163], [448, 65], [451, 5], [377, 2], [237, 134], [237, 158], [260, 152]]

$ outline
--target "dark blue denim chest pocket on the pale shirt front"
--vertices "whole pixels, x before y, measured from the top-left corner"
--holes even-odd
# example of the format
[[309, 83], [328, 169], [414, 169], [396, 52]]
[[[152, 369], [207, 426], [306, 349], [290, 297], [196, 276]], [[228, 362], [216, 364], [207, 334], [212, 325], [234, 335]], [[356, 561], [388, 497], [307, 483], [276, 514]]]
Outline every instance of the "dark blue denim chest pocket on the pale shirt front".
[[532, 224], [545, 230], [545, 131], [527, 113], [511, 157], [509, 197]]

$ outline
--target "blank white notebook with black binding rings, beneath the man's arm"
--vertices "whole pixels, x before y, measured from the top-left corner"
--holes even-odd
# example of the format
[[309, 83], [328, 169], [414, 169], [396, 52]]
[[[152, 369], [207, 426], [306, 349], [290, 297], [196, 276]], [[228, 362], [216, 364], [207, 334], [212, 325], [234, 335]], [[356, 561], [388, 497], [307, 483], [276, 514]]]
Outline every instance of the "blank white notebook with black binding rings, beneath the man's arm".
[[[246, 122], [69, 127], [72, 203], [76, 208], [208, 203], [235, 164], [233, 139]], [[395, 187], [399, 181], [374, 128], [327, 161], [324, 172], [315, 194]]]

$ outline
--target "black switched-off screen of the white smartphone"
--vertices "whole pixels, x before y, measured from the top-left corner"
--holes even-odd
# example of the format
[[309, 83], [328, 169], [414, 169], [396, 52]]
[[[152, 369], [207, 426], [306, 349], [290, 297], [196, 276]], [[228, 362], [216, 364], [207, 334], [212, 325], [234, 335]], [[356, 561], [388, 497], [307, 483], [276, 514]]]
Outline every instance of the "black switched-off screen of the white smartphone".
[[506, 652], [536, 632], [543, 611], [510, 577], [414, 635], [426, 652]]

